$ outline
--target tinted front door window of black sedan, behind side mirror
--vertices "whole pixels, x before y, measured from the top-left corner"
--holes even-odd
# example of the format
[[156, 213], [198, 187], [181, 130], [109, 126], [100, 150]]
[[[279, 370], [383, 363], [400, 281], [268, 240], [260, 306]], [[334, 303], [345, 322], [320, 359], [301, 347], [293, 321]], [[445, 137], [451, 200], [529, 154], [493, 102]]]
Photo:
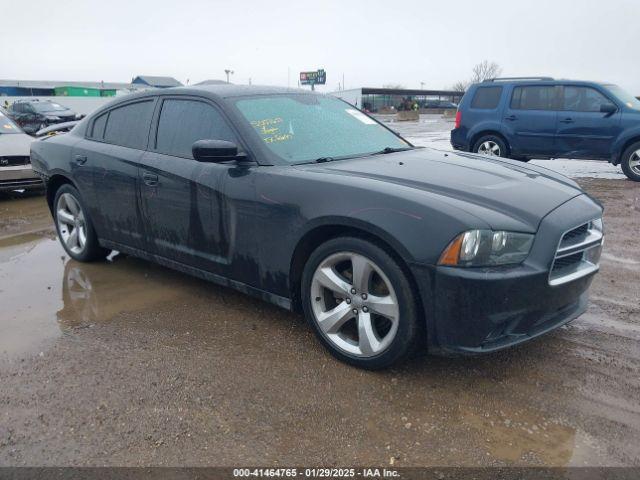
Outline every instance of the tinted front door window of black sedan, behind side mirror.
[[208, 103], [186, 99], [162, 102], [156, 150], [167, 155], [193, 158], [191, 147], [198, 140], [236, 142], [236, 137], [218, 110]]

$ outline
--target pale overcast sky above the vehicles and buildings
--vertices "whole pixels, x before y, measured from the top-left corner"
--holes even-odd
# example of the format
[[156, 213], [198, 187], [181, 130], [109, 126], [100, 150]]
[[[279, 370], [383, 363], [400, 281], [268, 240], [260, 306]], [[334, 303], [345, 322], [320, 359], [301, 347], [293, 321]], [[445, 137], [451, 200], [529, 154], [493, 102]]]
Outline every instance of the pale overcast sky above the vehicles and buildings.
[[503, 76], [610, 81], [640, 95], [640, 0], [0, 0], [0, 78], [448, 89]]

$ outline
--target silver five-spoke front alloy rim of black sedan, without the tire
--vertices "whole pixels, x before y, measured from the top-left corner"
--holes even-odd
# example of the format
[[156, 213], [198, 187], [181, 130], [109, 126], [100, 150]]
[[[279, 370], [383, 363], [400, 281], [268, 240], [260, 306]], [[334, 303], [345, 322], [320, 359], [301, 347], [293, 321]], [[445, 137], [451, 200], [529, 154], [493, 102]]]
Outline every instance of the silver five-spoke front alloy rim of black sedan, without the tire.
[[311, 301], [322, 334], [351, 355], [376, 356], [398, 332], [400, 309], [393, 286], [363, 255], [340, 252], [321, 262], [311, 280]]

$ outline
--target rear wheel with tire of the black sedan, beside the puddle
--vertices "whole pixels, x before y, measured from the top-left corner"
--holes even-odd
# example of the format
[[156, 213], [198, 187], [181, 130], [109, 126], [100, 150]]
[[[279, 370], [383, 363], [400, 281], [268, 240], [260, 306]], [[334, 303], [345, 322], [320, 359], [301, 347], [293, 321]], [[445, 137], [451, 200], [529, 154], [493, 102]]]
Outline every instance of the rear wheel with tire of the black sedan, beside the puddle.
[[104, 259], [110, 253], [98, 243], [88, 210], [72, 185], [62, 185], [56, 191], [53, 219], [62, 247], [74, 260], [92, 262]]

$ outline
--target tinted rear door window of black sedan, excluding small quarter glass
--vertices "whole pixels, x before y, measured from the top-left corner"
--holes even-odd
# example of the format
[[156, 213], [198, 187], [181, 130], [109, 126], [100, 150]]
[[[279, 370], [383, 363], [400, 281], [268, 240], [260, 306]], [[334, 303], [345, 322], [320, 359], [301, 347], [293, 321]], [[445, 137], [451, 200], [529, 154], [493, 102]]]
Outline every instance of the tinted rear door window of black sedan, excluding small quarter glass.
[[144, 150], [147, 146], [152, 115], [153, 100], [114, 108], [109, 112], [104, 141]]

